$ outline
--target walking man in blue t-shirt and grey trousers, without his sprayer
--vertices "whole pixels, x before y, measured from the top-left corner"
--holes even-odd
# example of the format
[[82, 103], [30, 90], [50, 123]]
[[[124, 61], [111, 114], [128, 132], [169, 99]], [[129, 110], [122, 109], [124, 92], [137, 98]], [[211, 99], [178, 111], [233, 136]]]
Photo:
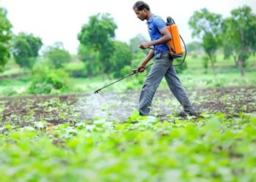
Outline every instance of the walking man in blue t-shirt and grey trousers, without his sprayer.
[[165, 76], [167, 84], [173, 92], [173, 95], [177, 98], [178, 102], [184, 108], [184, 114], [196, 115], [195, 108], [189, 101], [187, 92], [181, 85], [178, 76], [176, 75], [175, 68], [173, 67], [173, 58], [171, 58], [169, 48], [167, 47], [167, 41], [170, 41], [172, 37], [169, 31], [167, 31], [165, 21], [161, 17], [158, 17], [151, 13], [148, 4], [143, 1], [137, 1], [133, 10], [140, 20], [147, 20], [148, 33], [151, 37], [151, 41], [140, 44], [140, 48], [145, 50], [148, 47], [154, 46], [154, 50], [151, 50], [143, 63], [138, 67], [138, 72], [145, 70], [146, 64], [151, 58], [154, 58], [154, 65], [149, 72], [146, 81], [143, 84], [143, 88], [140, 92], [139, 108], [140, 116], [147, 116], [150, 111], [151, 103], [154, 97], [154, 93], [157, 91], [162, 78]]

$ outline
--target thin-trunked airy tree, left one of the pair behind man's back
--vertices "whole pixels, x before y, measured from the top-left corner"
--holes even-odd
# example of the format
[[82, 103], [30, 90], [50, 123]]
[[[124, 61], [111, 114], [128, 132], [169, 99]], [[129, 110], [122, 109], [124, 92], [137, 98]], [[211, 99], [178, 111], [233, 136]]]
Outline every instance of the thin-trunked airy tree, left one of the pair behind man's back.
[[221, 23], [222, 16], [208, 12], [206, 8], [196, 11], [189, 19], [192, 36], [202, 39], [202, 47], [211, 61], [211, 68], [214, 71], [214, 75], [216, 74], [214, 67], [214, 62], [216, 62], [215, 52], [220, 47], [219, 36], [221, 35]]

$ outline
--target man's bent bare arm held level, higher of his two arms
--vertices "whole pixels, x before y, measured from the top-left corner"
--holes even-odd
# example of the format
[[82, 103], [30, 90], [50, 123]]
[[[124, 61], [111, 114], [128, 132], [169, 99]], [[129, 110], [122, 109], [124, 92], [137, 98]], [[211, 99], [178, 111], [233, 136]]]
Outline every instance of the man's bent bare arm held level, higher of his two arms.
[[148, 47], [151, 47], [152, 45], [155, 44], [164, 44], [167, 41], [170, 41], [170, 39], [172, 39], [172, 36], [170, 36], [169, 31], [167, 30], [167, 28], [162, 28], [160, 30], [160, 33], [162, 34], [162, 37], [160, 39], [154, 40], [154, 41], [147, 41], [143, 44], [140, 44], [140, 49], [146, 50]]

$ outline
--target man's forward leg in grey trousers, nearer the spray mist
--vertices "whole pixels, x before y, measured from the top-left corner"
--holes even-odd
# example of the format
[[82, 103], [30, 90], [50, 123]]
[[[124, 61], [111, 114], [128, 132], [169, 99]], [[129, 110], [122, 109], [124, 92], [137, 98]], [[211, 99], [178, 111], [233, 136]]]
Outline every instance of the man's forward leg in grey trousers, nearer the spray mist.
[[[163, 57], [163, 56], [162, 56]], [[147, 116], [150, 111], [151, 103], [154, 97], [157, 87], [159, 86], [162, 78], [170, 65], [167, 65], [166, 60], [162, 58], [156, 58], [154, 65], [149, 72], [146, 81], [143, 84], [143, 88], [140, 92], [139, 108], [141, 116]]]

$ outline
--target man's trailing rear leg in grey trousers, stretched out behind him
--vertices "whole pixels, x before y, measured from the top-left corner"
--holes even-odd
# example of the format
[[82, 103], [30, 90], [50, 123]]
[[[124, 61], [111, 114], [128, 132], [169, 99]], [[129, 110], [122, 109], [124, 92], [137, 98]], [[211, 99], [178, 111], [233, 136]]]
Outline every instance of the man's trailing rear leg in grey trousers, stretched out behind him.
[[165, 79], [171, 92], [173, 92], [173, 95], [177, 98], [178, 102], [181, 103], [181, 106], [183, 106], [185, 113], [195, 114], [195, 108], [190, 103], [187, 92], [178, 79], [173, 64], [168, 68], [165, 74]]

